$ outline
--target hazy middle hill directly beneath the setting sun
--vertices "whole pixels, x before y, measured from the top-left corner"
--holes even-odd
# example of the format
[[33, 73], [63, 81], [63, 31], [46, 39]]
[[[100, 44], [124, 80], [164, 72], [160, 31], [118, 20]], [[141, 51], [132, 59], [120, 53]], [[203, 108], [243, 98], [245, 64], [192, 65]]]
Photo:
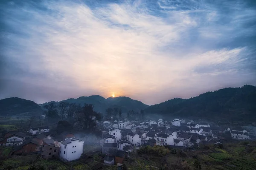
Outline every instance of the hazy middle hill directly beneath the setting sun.
[[[77, 99], [67, 99], [63, 100], [64, 102], [76, 103], [81, 106], [84, 103], [93, 104], [94, 110], [100, 113], [105, 113], [107, 108], [121, 108], [123, 112], [127, 112], [129, 110], [140, 111], [148, 107], [148, 105], [143, 104], [143, 102], [131, 99], [129, 97], [109, 97], [105, 99], [102, 96], [94, 95], [94, 96], [81, 96]], [[52, 101], [54, 102], [54, 101]], [[42, 104], [42, 108], [44, 105], [49, 104], [50, 102]], [[58, 102], [55, 102], [58, 104]], [[44, 109], [44, 108], [43, 108]]]

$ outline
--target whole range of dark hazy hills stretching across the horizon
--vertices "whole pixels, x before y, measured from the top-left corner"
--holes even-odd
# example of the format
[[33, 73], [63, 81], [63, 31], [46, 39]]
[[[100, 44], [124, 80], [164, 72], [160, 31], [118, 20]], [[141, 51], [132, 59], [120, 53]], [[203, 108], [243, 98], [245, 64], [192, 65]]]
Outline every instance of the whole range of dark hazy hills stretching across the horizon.
[[[153, 96], [152, 96], [153, 97]], [[81, 96], [77, 99], [66, 99], [65, 102], [80, 105], [93, 104], [98, 112], [105, 113], [107, 108], [121, 108], [125, 113], [129, 110], [139, 112], [144, 110], [146, 114], [158, 114], [180, 118], [196, 118], [209, 120], [231, 120], [255, 122], [256, 120], [256, 87], [244, 85], [241, 88], [223, 88], [213, 92], [207, 92], [190, 99], [175, 98], [157, 105], [145, 105], [140, 101], [129, 97]], [[24, 114], [38, 115], [43, 113], [43, 106], [49, 102], [40, 104], [20, 99], [17, 97], [0, 100], [0, 116], [12, 116]], [[58, 104], [58, 102], [56, 102]]]

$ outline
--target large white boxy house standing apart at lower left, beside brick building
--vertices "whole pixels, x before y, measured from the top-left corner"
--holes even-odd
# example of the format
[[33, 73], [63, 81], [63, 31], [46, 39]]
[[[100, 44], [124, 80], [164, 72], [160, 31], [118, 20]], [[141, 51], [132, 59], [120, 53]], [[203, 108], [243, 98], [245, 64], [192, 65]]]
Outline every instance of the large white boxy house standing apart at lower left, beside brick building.
[[84, 141], [79, 139], [66, 139], [60, 142], [60, 159], [64, 161], [73, 161], [79, 159], [83, 153]]

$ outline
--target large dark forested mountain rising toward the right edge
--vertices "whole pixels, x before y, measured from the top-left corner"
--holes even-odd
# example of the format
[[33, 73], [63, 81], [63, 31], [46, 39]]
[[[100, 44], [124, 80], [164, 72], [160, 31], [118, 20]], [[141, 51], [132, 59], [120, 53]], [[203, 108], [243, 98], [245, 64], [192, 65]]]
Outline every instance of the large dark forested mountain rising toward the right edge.
[[175, 98], [146, 108], [145, 113], [209, 120], [256, 121], [256, 87], [223, 88], [190, 99]]

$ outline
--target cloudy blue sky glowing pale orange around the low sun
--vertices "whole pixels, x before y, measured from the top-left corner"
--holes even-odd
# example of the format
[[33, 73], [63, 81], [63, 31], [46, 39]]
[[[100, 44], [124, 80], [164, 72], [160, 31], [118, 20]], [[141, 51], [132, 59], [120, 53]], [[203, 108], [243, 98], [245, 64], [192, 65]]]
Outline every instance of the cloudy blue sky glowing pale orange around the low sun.
[[2, 0], [0, 99], [153, 105], [256, 85], [255, 0]]

